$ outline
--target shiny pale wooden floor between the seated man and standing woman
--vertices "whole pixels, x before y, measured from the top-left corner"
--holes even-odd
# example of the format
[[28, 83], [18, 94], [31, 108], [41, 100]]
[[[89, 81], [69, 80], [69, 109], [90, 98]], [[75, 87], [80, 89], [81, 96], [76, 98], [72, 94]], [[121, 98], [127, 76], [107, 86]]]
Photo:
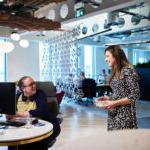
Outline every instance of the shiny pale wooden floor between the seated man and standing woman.
[[55, 145], [49, 150], [63, 150], [62, 145], [68, 144], [68, 141], [84, 138], [85, 135], [90, 135], [95, 130], [107, 130], [107, 113], [104, 110], [98, 110], [92, 105], [79, 105], [63, 99], [61, 112], [64, 118], [61, 124], [62, 131]]

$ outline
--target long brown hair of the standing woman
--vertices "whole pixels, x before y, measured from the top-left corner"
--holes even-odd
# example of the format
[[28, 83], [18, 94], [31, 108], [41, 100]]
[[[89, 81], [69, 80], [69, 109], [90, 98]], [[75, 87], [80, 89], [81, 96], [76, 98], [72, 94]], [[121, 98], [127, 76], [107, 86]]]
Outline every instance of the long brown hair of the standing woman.
[[121, 70], [125, 66], [130, 66], [128, 59], [124, 53], [124, 51], [118, 45], [112, 45], [105, 49], [105, 53], [109, 51], [112, 56], [116, 60], [116, 64], [112, 66], [109, 83], [111, 82], [112, 78], [116, 76], [117, 78], [120, 77]]

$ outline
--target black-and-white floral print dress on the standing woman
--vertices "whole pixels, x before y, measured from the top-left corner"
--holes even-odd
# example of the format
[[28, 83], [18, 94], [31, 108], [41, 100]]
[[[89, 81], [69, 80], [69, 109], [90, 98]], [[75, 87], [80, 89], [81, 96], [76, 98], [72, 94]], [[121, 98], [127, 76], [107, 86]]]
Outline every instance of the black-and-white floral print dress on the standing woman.
[[124, 67], [120, 79], [114, 77], [110, 83], [112, 100], [127, 97], [130, 104], [108, 110], [108, 130], [137, 128], [136, 100], [140, 97], [138, 75], [132, 67]]

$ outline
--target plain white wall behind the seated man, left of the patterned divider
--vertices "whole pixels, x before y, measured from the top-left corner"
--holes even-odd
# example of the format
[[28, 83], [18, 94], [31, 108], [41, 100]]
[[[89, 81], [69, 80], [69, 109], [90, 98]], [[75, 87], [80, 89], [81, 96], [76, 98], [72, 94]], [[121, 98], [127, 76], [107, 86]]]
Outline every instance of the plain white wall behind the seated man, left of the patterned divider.
[[24, 75], [39, 80], [39, 45], [30, 42], [28, 48], [15, 43], [15, 50], [7, 55], [7, 81], [16, 81]]

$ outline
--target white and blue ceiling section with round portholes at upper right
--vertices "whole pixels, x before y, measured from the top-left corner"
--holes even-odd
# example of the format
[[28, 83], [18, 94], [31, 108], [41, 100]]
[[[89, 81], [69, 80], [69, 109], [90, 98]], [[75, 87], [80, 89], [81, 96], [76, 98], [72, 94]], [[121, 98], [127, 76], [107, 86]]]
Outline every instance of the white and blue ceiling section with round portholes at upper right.
[[[93, 30], [98, 25], [98, 31], [82, 33], [79, 43], [90, 45], [119, 44], [126, 47], [150, 50], [150, 1], [110, 11], [99, 17], [100, 23], [88, 25], [87, 30]], [[81, 26], [87, 27], [86, 24]]]

